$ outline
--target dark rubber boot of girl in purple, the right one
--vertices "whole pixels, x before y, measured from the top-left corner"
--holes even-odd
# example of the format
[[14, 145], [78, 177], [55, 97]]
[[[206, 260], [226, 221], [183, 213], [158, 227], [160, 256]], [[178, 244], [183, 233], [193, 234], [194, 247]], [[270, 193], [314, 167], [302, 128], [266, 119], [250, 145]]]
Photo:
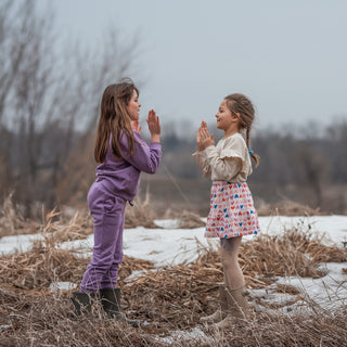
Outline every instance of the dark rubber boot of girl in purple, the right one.
[[120, 288], [100, 290], [101, 304], [110, 318], [124, 321], [134, 327], [140, 326], [140, 321], [128, 319], [120, 309]]

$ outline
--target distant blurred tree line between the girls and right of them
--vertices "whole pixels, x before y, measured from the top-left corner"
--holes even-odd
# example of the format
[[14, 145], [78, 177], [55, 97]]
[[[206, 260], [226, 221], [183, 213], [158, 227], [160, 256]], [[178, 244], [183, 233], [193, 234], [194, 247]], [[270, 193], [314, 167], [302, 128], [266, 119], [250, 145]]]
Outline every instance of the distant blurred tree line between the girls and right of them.
[[[301, 133], [294, 126], [285, 130], [264, 130], [252, 137], [252, 147], [260, 155], [249, 184], [255, 195], [268, 202], [290, 198], [313, 208], [336, 213], [347, 210], [347, 117], [329, 126], [303, 124]], [[219, 130], [211, 127], [218, 136]], [[218, 132], [219, 131], [219, 132]], [[164, 165], [172, 176], [201, 177], [191, 154], [194, 134], [179, 138], [171, 131], [164, 139]], [[330, 205], [330, 206], [329, 206]]]

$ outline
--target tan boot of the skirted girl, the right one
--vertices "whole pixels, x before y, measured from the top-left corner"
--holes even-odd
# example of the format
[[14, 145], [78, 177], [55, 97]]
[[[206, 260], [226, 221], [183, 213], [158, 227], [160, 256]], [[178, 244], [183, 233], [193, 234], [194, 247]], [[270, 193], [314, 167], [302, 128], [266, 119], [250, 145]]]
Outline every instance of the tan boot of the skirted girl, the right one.
[[249, 307], [245, 286], [230, 290], [226, 287], [228, 301], [227, 317], [216, 324], [217, 329], [228, 329], [235, 323], [242, 323], [247, 320]]

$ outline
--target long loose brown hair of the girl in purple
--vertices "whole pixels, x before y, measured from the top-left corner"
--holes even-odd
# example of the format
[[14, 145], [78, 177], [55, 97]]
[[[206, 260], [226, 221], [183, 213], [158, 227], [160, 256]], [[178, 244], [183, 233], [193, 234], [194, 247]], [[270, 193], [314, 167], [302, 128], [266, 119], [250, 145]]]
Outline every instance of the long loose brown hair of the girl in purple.
[[110, 136], [112, 136], [112, 151], [117, 158], [121, 156], [119, 143], [123, 133], [127, 137], [129, 143], [127, 155], [133, 154], [134, 139], [127, 106], [134, 90], [139, 95], [139, 90], [129, 78], [121, 79], [118, 83], [110, 85], [104, 90], [101, 99], [100, 118], [94, 146], [94, 158], [97, 163], [103, 163], [106, 158]]

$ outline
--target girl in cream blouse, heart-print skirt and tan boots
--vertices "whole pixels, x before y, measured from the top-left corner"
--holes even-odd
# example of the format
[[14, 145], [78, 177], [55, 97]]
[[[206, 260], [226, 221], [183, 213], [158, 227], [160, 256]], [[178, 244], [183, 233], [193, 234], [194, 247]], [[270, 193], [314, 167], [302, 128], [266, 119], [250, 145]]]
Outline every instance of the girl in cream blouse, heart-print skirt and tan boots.
[[245, 95], [228, 95], [216, 114], [217, 128], [224, 131], [223, 138], [215, 146], [214, 136], [202, 121], [196, 134], [197, 152], [193, 154], [203, 175], [213, 181], [205, 236], [220, 239], [224, 280], [219, 285], [220, 307], [201, 321], [216, 323], [219, 329], [245, 320], [248, 311], [237, 254], [242, 236], [259, 232], [257, 211], [246, 183], [252, 174], [250, 158], [256, 166], [259, 164], [249, 145], [254, 115], [253, 104]]

